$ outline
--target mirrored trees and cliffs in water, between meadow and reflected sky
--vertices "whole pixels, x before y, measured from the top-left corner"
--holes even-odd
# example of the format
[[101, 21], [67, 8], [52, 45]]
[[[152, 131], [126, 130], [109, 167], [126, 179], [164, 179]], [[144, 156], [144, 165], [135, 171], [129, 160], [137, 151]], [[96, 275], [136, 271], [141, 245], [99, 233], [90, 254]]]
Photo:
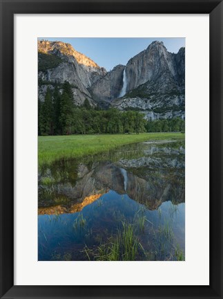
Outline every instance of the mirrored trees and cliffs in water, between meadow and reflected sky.
[[75, 205], [81, 208], [82, 203], [88, 202], [86, 198], [115, 190], [155, 210], [164, 201], [184, 202], [184, 186], [182, 143], [139, 143], [88, 156], [79, 163], [58, 161], [43, 168], [39, 176], [39, 207], [61, 206], [60, 211], [73, 212]]

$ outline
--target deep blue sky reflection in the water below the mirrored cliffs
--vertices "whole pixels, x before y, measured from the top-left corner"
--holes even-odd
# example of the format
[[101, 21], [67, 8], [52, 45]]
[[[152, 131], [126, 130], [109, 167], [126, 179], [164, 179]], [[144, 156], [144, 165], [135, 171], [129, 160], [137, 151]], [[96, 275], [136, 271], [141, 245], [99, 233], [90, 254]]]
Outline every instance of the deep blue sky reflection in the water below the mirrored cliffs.
[[[171, 201], [166, 201], [159, 210], [152, 211], [126, 194], [119, 195], [110, 191], [81, 212], [39, 215], [39, 260], [51, 260], [54, 254], [63, 256], [67, 252], [72, 252], [72, 260], [85, 260], [86, 255], [79, 253], [85, 245], [93, 246], [106, 242], [108, 235], [117, 232], [123, 217], [129, 222], [134, 221], [137, 212], [143, 212], [148, 219], [144, 233], [139, 234], [145, 250], [154, 250], [151, 244], [153, 230], [158, 230], [166, 221], [173, 229], [175, 242], [184, 248], [184, 203], [174, 206]], [[86, 219], [83, 232], [76, 232], [74, 228], [79, 214]]]

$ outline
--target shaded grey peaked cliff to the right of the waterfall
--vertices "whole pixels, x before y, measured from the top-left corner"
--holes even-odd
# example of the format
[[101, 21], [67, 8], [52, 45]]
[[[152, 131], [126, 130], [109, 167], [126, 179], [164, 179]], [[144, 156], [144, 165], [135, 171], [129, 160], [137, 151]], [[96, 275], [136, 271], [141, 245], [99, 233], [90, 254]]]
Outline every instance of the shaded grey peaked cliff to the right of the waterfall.
[[126, 81], [126, 94], [113, 107], [142, 111], [147, 120], [185, 117], [185, 48], [174, 54], [153, 42], [128, 61]]

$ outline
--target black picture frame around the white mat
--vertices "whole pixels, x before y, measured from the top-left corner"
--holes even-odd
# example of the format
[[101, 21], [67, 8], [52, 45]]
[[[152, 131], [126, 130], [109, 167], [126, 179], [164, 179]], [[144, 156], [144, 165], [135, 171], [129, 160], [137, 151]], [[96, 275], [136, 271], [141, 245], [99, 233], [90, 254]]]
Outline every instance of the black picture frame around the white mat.
[[[1, 3], [1, 298], [223, 298], [222, 98], [220, 0], [0, 0]], [[14, 286], [14, 14], [177, 13], [210, 18], [210, 285]], [[202, 51], [202, 46], [201, 46]], [[30, 275], [32, 275], [30, 273]]]

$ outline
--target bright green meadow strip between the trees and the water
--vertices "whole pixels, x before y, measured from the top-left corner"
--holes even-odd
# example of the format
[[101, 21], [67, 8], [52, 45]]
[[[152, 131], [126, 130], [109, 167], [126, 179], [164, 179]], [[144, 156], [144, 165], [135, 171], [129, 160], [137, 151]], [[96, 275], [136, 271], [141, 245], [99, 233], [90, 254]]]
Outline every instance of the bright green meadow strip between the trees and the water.
[[121, 145], [142, 141], [184, 140], [182, 133], [142, 133], [142, 134], [104, 134], [39, 136], [39, 167], [60, 159], [81, 158], [115, 149]]

